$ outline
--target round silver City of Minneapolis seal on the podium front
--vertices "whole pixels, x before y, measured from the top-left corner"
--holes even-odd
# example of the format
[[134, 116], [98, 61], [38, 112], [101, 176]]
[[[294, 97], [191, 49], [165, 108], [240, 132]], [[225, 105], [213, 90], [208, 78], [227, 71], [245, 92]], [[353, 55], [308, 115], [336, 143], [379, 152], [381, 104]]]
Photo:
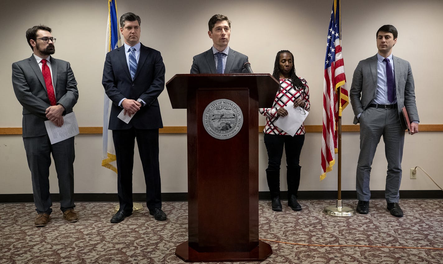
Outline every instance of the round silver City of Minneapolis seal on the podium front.
[[237, 103], [228, 99], [218, 99], [205, 108], [203, 126], [213, 138], [232, 138], [243, 126], [243, 113]]

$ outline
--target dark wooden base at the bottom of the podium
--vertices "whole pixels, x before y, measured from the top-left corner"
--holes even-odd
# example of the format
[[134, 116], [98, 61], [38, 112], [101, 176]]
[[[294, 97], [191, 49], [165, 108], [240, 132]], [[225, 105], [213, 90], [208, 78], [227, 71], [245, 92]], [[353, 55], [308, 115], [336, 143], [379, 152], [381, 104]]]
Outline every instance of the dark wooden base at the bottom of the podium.
[[271, 254], [271, 246], [263, 241], [249, 252], [198, 252], [189, 247], [188, 241], [175, 249], [175, 255], [185, 262], [263, 261]]

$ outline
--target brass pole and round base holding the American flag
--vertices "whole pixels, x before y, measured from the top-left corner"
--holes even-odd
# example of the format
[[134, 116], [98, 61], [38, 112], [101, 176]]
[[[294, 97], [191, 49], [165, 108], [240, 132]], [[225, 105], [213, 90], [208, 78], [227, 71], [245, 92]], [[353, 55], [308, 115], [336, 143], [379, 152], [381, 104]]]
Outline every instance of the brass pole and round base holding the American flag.
[[[337, 0], [334, 0], [334, 7], [337, 6]], [[340, 12], [340, 4], [338, 3], [338, 11]], [[339, 31], [342, 31], [341, 18], [339, 17]], [[340, 32], [341, 35], [341, 32]], [[340, 41], [341, 42], [341, 41]], [[340, 43], [341, 46], [341, 43]], [[337, 154], [338, 154], [338, 177], [337, 177], [337, 204], [325, 207], [323, 212], [328, 215], [338, 217], [350, 217], [355, 215], [354, 209], [342, 205], [342, 86], [337, 87], [337, 102], [338, 102], [338, 140], [337, 140]]]

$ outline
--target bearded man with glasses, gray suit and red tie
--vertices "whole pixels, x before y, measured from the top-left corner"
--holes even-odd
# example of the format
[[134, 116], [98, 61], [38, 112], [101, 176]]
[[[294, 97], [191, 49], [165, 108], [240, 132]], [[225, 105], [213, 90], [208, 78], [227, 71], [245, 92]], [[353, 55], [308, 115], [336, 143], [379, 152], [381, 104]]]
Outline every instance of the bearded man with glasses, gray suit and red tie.
[[74, 211], [74, 137], [51, 145], [45, 121], [63, 125], [78, 99], [77, 81], [70, 63], [54, 59], [51, 28], [34, 26], [26, 31], [33, 54], [12, 64], [12, 86], [23, 106], [23, 143], [31, 170], [35, 226], [46, 226], [52, 212], [49, 193], [51, 153], [57, 171], [60, 209], [68, 222], [77, 222]]

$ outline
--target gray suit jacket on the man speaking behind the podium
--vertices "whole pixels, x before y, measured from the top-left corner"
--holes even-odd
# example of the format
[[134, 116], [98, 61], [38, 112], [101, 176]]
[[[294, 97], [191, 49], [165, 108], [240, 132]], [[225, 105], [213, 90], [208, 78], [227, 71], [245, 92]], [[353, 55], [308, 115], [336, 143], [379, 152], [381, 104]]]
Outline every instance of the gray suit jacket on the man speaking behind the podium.
[[[243, 67], [246, 62], [248, 62], [248, 56], [229, 48], [225, 73], [248, 73]], [[212, 48], [192, 58], [190, 73], [217, 73]]]

